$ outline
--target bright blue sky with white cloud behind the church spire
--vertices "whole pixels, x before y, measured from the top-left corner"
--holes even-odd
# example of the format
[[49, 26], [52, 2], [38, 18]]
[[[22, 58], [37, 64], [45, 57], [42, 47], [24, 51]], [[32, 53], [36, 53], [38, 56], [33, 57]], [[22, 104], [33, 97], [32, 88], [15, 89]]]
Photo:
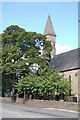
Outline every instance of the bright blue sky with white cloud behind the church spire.
[[18, 25], [43, 34], [50, 14], [56, 33], [57, 54], [78, 47], [77, 2], [2, 2], [2, 27]]

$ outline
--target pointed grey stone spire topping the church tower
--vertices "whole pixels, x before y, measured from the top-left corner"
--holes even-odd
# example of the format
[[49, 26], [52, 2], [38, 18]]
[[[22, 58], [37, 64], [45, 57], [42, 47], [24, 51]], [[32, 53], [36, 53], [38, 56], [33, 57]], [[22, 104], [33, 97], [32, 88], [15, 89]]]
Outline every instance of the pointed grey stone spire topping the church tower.
[[53, 27], [52, 22], [51, 22], [50, 15], [48, 15], [47, 23], [46, 23], [45, 30], [44, 30], [44, 35], [56, 36], [55, 31], [54, 31], [54, 27]]

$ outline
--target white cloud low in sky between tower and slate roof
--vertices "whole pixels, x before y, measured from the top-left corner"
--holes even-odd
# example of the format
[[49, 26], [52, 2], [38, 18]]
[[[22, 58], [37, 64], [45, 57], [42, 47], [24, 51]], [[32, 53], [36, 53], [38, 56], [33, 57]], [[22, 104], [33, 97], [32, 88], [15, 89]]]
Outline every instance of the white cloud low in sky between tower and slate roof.
[[56, 44], [56, 54], [67, 52], [67, 51], [70, 51], [72, 49], [74, 49], [74, 48], [69, 47], [69, 46], [62, 46], [60, 44]]

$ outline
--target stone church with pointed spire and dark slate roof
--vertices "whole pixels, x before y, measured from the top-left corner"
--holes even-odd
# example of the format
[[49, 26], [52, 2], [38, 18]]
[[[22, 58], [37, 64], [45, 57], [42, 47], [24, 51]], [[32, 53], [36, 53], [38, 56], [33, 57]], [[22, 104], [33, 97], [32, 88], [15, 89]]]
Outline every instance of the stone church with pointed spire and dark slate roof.
[[56, 55], [56, 33], [54, 31], [50, 15], [47, 19], [44, 35], [52, 44], [51, 61], [49, 62], [49, 66], [55, 67], [57, 72], [70, 80], [72, 88], [71, 94], [78, 98], [80, 48]]

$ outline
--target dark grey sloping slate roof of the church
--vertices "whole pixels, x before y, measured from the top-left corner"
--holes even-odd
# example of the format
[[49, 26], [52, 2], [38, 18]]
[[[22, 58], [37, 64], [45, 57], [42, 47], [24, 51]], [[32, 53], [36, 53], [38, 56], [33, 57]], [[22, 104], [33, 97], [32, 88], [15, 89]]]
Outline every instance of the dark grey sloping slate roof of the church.
[[59, 72], [80, 68], [80, 48], [55, 55], [49, 63]]

